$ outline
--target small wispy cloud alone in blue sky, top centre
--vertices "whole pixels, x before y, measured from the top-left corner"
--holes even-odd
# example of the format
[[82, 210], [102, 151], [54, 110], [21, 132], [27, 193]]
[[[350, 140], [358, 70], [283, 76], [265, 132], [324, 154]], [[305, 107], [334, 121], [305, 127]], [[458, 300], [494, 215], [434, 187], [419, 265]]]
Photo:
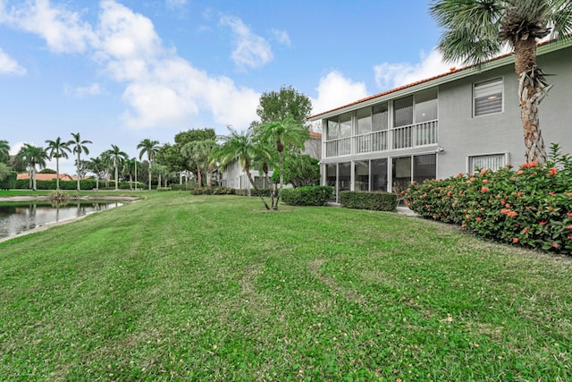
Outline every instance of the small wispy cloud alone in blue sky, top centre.
[[219, 23], [234, 33], [236, 47], [231, 59], [239, 68], [259, 68], [272, 61], [273, 53], [268, 41], [254, 34], [238, 17], [223, 16]]

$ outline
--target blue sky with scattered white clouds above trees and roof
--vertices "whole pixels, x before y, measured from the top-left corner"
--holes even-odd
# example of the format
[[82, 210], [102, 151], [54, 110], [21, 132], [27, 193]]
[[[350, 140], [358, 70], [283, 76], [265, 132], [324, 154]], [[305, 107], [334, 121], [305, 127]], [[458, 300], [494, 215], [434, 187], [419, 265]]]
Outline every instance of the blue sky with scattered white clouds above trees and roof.
[[449, 71], [429, 3], [0, 0], [0, 140], [16, 154], [80, 132], [82, 159], [139, 157], [147, 138], [246, 129], [282, 86], [324, 112]]

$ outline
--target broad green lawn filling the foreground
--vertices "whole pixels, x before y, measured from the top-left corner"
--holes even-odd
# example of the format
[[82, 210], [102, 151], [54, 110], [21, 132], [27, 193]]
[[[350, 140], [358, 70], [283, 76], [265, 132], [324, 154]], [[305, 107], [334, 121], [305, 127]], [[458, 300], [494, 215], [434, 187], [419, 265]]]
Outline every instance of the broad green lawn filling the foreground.
[[572, 379], [570, 258], [391, 213], [146, 196], [0, 243], [3, 380]]

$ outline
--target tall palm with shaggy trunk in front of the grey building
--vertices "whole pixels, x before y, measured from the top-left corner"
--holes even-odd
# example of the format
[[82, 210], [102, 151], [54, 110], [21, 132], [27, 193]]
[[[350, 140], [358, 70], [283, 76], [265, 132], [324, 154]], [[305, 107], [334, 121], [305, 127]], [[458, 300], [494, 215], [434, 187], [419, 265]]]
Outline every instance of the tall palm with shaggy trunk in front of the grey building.
[[447, 61], [477, 67], [509, 46], [515, 55], [527, 162], [546, 161], [538, 106], [551, 86], [536, 65], [539, 38], [572, 32], [572, 0], [440, 0], [430, 13], [445, 31], [439, 44]]

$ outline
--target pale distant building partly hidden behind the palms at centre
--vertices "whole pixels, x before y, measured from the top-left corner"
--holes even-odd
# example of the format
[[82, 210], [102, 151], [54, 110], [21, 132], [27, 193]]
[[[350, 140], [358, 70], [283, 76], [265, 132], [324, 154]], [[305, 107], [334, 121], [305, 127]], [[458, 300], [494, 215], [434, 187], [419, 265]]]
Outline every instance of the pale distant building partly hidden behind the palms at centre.
[[[304, 144], [304, 149], [301, 152], [304, 155], [320, 159], [322, 156], [322, 134], [319, 132], [310, 132], [310, 139]], [[231, 162], [226, 168], [221, 170], [220, 184], [223, 187], [230, 187], [236, 190], [249, 190], [252, 185], [248, 181], [248, 176], [242, 169], [238, 161]], [[260, 174], [259, 168], [251, 169], [250, 173], [254, 178], [254, 182], [258, 188], [268, 188], [264, 174]], [[268, 177], [272, 178], [273, 170], [268, 171]]]

